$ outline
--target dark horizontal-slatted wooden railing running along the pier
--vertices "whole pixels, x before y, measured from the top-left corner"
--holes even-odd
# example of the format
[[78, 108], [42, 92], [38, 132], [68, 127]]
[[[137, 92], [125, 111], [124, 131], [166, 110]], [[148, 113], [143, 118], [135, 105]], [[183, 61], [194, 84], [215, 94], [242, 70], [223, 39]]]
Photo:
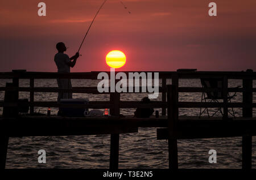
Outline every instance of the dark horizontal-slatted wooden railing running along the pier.
[[[147, 71], [146, 71], [147, 72]], [[56, 72], [26, 72], [20, 70], [14, 70], [13, 72], [1, 72], [0, 79], [13, 79], [13, 85], [11, 87], [0, 87], [0, 91], [16, 91], [17, 92], [30, 92], [30, 113], [34, 113], [35, 106], [43, 107], [63, 107], [67, 105], [58, 104], [52, 101], [34, 101], [35, 92], [73, 92], [73, 93], [93, 93], [97, 94], [97, 87], [73, 87], [72, 89], [59, 89], [55, 87], [34, 87], [35, 79], [56, 79], [56, 78], [69, 78], [69, 79], [97, 79], [99, 72], [73, 72], [73, 73], [56, 73]], [[110, 73], [110, 72], [107, 72]], [[117, 72], [116, 72], [117, 73]], [[129, 72], [125, 73], [128, 75]], [[154, 74], [154, 73], [153, 73]], [[179, 79], [198, 79], [198, 78], [224, 78], [223, 89], [204, 89], [199, 87], [179, 87]], [[154, 78], [154, 76], [152, 77]], [[19, 79], [30, 79], [30, 87], [19, 87]], [[208, 103], [208, 102], [178, 102], [179, 108], [224, 108], [224, 117], [228, 117], [228, 108], [243, 108], [243, 116], [251, 117], [252, 110], [256, 104], [253, 103], [252, 93], [256, 92], [256, 88], [253, 88], [253, 80], [256, 79], [256, 72], [159, 72], [159, 79], [162, 79], [162, 87], [159, 87], [159, 92], [162, 93], [162, 101], [152, 101], [151, 104], [143, 105], [150, 106], [152, 108], [162, 108], [162, 115], [166, 115], [166, 92], [167, 92], [167, 79], [171, 79], [172, 85], [177, 86], [178, 92], [205, 92], [205, 91], [222, 91], [224, 93], [224, 100], [221, 103]], [[241, 79], [243, 81], [242, 88], [228, 88], [228, 79]], [[133, 91], [134, 92], [134, 91]], [[141, 92], [141, 87], [140, 87]], [[229, 102], [228, 92], [242, 92], [242, 102]], [[0, 102], [0, 106], [11, 106], [7, 102]], [[15, 104], [13, 104], [15, 105]], [[112, 101], [91, 101], [89, 105], [72, 105], [81, 108], [112, 108]], [[119, 108], [138, 108], [137, 101], [120, 101]]]

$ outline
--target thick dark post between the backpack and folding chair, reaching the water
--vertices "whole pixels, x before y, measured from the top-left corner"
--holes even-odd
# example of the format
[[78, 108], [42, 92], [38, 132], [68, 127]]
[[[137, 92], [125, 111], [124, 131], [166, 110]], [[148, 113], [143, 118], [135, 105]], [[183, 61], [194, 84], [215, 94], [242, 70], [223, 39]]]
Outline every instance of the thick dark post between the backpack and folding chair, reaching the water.
[[178, 168], [178, 152], [177, 152], [177, 122], [178, 122], [178, 107], [177, 107], [177, 86], [167, 85], [167, 102], [168, 102], [168, 151], [169, 151], [169, 168]]

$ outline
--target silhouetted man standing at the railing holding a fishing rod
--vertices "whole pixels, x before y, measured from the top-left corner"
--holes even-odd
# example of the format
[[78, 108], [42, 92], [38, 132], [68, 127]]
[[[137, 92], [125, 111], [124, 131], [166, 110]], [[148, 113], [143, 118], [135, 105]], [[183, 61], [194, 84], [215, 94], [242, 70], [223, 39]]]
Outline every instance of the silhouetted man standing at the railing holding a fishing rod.
[[[67, 54], [64, 54], [67, 48], [63, 42], [58, 42], [56, 44], [56, 49], [58, 50], [58, 53], [55, 54], [54, 61], [56, 63], [58, 72], [70, 72], [70, 67], [74, 67], [76, 65], [76, 60], [79, 58], [79, 53], [77, 52], [75, 55], [69, 58]], [[57, 78], [57, 84], [60, 89], [72, 88], [71, 79]], [[72, 92], [59, 92], [57, 98], [58, 102], [61, 98], [72, 98]]]

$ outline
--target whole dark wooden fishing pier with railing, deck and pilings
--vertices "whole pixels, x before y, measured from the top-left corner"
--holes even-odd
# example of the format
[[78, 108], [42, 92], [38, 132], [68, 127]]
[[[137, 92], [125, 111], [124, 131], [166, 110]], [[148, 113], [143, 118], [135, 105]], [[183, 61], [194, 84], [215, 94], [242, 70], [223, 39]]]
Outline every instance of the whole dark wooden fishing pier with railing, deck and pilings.
[[[162, 86], [162, 101], [151, 100], [149, 104], [139, 101], [121, 101], [121, 93], [109, 92], [109, 101], [89, 101], [88, 104], [60, 104], [57, 101], [35, 101], [35, 92], [73, 92], [99, 94], [97, 87], [73, 87], [59, 89], [57, 87], [34, 87], [35, 79], [90, 79], [96, 80], [99, 72], [27, 72], [14, 70], [0, 72], [0, 79], [13, 79], [0, 87], [5, 91], [4, 101], [0, 101], [3, 114], [0, 117], [0, 165], [5, 168], [9, 137], [23, 136], [68, 136], [110, 134], [110, 169], [118, 169], [119, 134], [138, 132], [139, 127], [158, 127], [157, 138], [168, 139], [169, 168], [178, 168], [177, 139], [221, 138], [242, 136], [242, 169], [251, 169], [252, 136], [256, 135], [256, 118], [253, 117], [253, 80], [256, 72], [159, 72]], [[108, 72], [109, 73], [109, 72]], [[125, 72], [128, 74], [128, 72]], [[222, 88], [179, 87], [179, 79], [223, 78]], [[30, 87], [19, 87], [20, 79], [29, 79]], [[171, 85], [167, 85], [171, 79]], [[242, 80], [242, 87], [229, 88], [229, 79]], [[56, 82], [57, 83], [57, 82]], [[140, 87], [141, 89], [142, 87]], [[19, 101], [19, 92], [29, 92], [30, 98]], [[133, 91], [134, 92], [134, 91]], [[179, 93], [221, 92], [221, 102], [184, 102], [179, 101]], [[242, 102], [230, 102], [229, 93], [242, 93]], [[130, 92], [127, 92], [130, 93]], [[19, 114], [19, 109], [29, 106], [28, 114]], [[35, 107], [51, 108], [89, 108], [110, 109], [108, 117], [61, 117], [57, 115], [35, 115]], [[222, 108], [222, 117], [185, 117], [179, 115], [180, 108]], [[123, 108], [161, 108], [159, 118], [121, 117]], [[230, 108], [241, 108], [242, 117], [230, 117]], [[129, 143], [129, 142], [127, 142]]]

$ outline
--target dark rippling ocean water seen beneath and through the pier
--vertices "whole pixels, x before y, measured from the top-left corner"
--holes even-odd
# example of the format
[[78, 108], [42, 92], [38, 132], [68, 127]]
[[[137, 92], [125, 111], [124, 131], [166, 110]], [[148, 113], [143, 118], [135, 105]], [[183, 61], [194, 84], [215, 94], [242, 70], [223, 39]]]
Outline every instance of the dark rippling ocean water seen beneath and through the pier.
[[[4, 87], [9, 79], [0, 80]], [[167, 80], [167, 84], [171, 84]], [[181, 79], [180, 87], [200, 87], [199, 79]], [[28, 87], [29, 80], [20, 80], [20, 87]], [[97, 86], [97, 80], [72, 80], [73, 87]], [[160, 84], [161, 85], [161, 84]], [[229, 87], [242, 85], [241, 80], [229, 80]], [[57, 87], [56, 80], [35, 80], [35, 87]], [[256, 82], [254, 81], [254, 87]], [[147, 93], [122, 94], [121, 100], [139, 101]], [[3, 100], [4, 92], [0, 92]], [[109, 100], [109, 95], [74, 93], [73, 98], [89, 98], [91, 101]], [[255, 93], [253, 95], [255, 100]], [[20, 92], [19, 98], [29, 98], [29, 93]], [[162, 99], [159, 94], [158, 100]], [[57, 93], [35, 93], [35, 101], [56, 101]], [[200, 101], [201, 93], [180, 93], [179, 101]], [[241, 102], [237, 93], [233, 102]], [[46, 113], [47, 108], [35, 108]], [[161, 109], [159, 110], [161, 114]], [[241, 109], [234, 109], [241, 116]], [[124, 115], [133, 115], [135, 109], [121, 109]], [[199, 115], [200, 109], [180, 109], [180, 115]], [[0, 109], [2, 114], [2, 109]], [[52, 114], [57, 109], [52, 108]], [[254, 109], [255, 117], [256, 111]], [[241, 168], [242, 138], [215, 138], [178, 140], [179, 168]], [[253, 137], [253, 168], [256, 168], [256, 139]], [[46, 164], [38, 163], [38, 151], [46, 151]], [[208, 162], [210, 149], [217, 151], [217, 163]], [[6, 168], [109, 168], [110, 135], [43, 136], [10, 138]], [[121, 134], [119, 140], [119, 168], [168, 168], [168, 142], [156, 140], [156, 128], [139, 128], [138, 133]]]

